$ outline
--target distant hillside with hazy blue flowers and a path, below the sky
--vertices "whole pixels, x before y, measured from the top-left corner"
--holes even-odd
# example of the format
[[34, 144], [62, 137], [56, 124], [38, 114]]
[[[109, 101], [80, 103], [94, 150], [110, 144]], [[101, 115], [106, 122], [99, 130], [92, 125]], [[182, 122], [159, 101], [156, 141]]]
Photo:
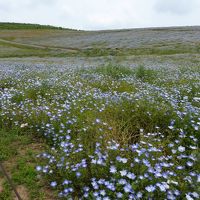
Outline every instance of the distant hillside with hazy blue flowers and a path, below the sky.
[[7, 27], [0, 24], [0, 57], [200, 53], [200, 27], [105, 31], [77, 31], [34, 24], [9, 24]]

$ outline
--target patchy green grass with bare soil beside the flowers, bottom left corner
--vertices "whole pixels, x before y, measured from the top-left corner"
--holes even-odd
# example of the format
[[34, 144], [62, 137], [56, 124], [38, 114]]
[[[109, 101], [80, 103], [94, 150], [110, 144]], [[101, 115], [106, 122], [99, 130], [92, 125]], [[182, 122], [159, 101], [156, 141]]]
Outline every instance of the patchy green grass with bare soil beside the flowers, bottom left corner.
[[[37, 141], [33, 143], [35, 139], [31, 135], [17, 129], [1, 130], [0, 138], [0, 161], [3, 162], [7, 173], [11, 174], [14, 185], [26, 187], [30, 200], [45, 199], [45, 181], [40, 181], [35, 171], [38, 162], [36, 155], [41, 152]], [[34, 149], [31, 149], [33, 147]], [[0, 178], [4, 180], [0, 199], [11, 200], [12, 189], [2, 173]]]

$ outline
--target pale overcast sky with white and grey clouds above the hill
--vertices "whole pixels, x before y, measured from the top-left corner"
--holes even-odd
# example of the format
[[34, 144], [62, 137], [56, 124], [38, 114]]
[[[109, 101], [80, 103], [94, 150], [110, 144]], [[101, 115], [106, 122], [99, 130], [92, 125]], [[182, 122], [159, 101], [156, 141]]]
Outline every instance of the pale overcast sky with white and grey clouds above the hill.
[[200, 0], [0, 0], [0, 22], [97, 30], [200, 25]]

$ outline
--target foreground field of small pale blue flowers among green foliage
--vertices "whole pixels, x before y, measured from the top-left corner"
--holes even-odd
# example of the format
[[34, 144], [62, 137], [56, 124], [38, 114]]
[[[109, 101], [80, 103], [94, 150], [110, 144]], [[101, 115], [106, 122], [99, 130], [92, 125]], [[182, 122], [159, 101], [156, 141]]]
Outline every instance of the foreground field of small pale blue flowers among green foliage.
[[49, 145], [58, 198], [199, 199], [199, 67], [0, 70], [0, 127]]

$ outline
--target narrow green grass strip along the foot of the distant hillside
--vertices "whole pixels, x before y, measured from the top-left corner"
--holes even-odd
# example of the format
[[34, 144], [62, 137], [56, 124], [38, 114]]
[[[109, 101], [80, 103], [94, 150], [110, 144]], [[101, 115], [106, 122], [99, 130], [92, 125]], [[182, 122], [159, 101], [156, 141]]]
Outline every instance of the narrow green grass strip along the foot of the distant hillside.
[[[104, 57], [104, 56], [164, 56], [164, 55], [176, 55], [176, 54], [199, 54], [200, 45], [181, 45], [174, 44], [160, 48], [155, 45], [151, 47], [139, 47], [139, 48], [90, 48], [90, 49], [51, 49], [51, 46], [46, 49], [40, 49], [23, 44], [12, 44], [5, 41], [0, 41], [0, 47], [5, 48], [5, 51], [0, 51], [0, 57]], [[14, 49], [13, 49], [14, 48]], [[16, 51], [16, 48], [18, 49]]]

